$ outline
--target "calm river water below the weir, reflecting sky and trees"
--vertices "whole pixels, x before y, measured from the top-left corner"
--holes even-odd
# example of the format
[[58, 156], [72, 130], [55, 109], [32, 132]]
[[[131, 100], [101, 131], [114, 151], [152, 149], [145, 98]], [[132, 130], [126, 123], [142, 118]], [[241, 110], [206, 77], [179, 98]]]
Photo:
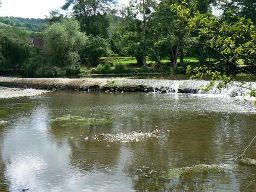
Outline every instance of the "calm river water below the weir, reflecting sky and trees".
[[[0, 191], [246, 191], [255, 176], [172, 168], [228, 164], [256, 135], [256, 107], [243, 99], [190, 94], [57, 91], [0, 100]], [[3, 123], [5, 122], [5, 123]], [[110, 142], [158, 130], [157, 137]], [[88, 137], [88, 138], [87, 138]], [[86, 139], [84, 139], [86, 138]], [[255, 142], [244, 157], [256, 159]]]

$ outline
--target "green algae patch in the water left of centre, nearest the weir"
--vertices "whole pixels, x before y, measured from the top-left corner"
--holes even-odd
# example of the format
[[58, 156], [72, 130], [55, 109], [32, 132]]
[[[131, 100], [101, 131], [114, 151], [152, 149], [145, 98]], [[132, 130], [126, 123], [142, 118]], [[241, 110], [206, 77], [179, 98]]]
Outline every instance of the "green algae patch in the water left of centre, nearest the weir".
[[89, 117], [80, 117], [80, 116], [64, 116], [57, 117], [52, 119], [54, 122], [60, 123], [60, 126], [72, 126], [72, 125], [98, 125], [98, 124], [106, 124], [111, 123], [110, 119], [97, 119], [97, 118], [89, 118]]

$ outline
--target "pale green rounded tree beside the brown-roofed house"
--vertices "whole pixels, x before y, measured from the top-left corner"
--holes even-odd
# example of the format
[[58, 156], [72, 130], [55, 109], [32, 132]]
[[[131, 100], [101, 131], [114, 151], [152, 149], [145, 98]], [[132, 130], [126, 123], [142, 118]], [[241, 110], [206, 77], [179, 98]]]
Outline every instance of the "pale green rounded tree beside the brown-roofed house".
[[43, 35], [46, 50], [60, 66], [74, 65], [80, 58], [79, 52], [88, 42], [87, 35], [80, 32], [79, 23], [72, 18], [51, 25]]

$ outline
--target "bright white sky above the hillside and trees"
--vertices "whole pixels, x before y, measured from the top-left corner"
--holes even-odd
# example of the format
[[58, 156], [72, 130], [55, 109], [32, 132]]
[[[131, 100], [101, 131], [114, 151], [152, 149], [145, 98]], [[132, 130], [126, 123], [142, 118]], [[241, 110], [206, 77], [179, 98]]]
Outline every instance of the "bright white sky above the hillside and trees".
[[[117, 0], [118, 4], [125, 4], [129, 0]], [[45, 18], [52, 9], [59, 9], [65, 0], [2, 0], [0, 16], [14, 16], [25, 18]]]

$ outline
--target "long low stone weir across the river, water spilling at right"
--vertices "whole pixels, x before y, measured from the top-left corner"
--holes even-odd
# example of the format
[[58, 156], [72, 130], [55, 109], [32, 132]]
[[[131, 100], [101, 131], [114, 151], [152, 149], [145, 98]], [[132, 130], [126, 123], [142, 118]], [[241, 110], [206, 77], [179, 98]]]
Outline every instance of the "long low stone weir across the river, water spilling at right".
[[[244, 96], [248, 89], [229, 86], [218, 90], [214, 88], [203, 92], [200, 87], [205, 86], [206, 80], [163, 80], [163, 79], [129, 79], [129, 78], [8, 78], [0, 77], [0, 86], [10, 88], [32, 88], [39, 90], [77, 90], [77, 91], [126, 91], [126, 92], [158, 92], [158, 93], [191, 93], [215, 94], [225, 96]], [[233, 82], [239, 84], [239, 82]], [[247, 82], [243, 87], [251, 86], [256, 89], [256, 82]]]

